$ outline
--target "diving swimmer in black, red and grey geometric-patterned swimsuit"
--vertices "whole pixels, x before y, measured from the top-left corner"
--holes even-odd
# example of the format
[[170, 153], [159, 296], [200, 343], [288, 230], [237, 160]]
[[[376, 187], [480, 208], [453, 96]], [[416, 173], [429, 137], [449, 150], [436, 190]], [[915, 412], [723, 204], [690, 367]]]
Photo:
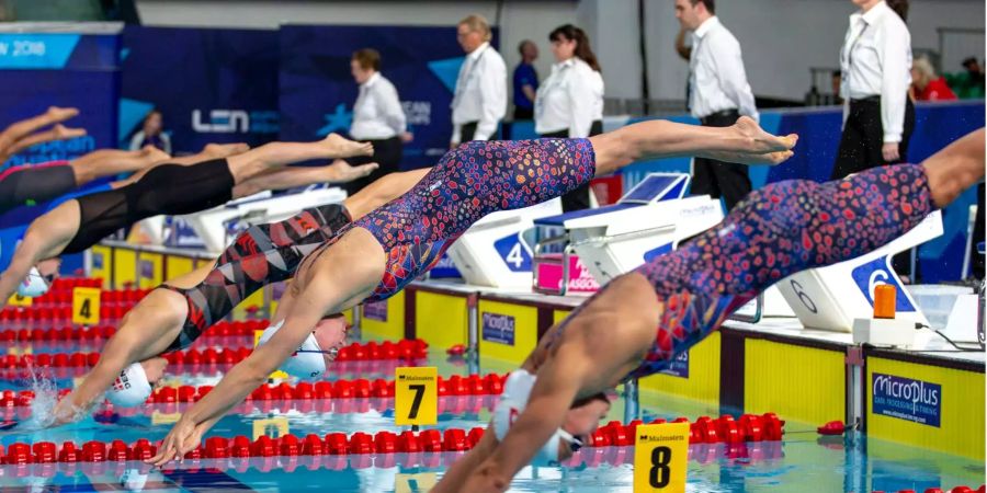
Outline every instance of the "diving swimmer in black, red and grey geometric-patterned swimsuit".
[[[163, 374], [162, 354], [191, 345], [242, 299], [266, 284], [294, 274], [304, 253], [334, 236], [352, 218], [359, 218], [407, 192], [428, 170], [390, 173], [371, 183], [342, 204], [310, 209], [270, 225], [241, 232], [219, 257], [208, 265], [150, 291], [124, 317], [120, 329], [103, 347], [99, 363], [54, 413], [54, 424], [82, 416], [124, 368], [139, 363], [148, 382]], [[345, 340], [345, 321], [320, 322], [325, 347]]]

